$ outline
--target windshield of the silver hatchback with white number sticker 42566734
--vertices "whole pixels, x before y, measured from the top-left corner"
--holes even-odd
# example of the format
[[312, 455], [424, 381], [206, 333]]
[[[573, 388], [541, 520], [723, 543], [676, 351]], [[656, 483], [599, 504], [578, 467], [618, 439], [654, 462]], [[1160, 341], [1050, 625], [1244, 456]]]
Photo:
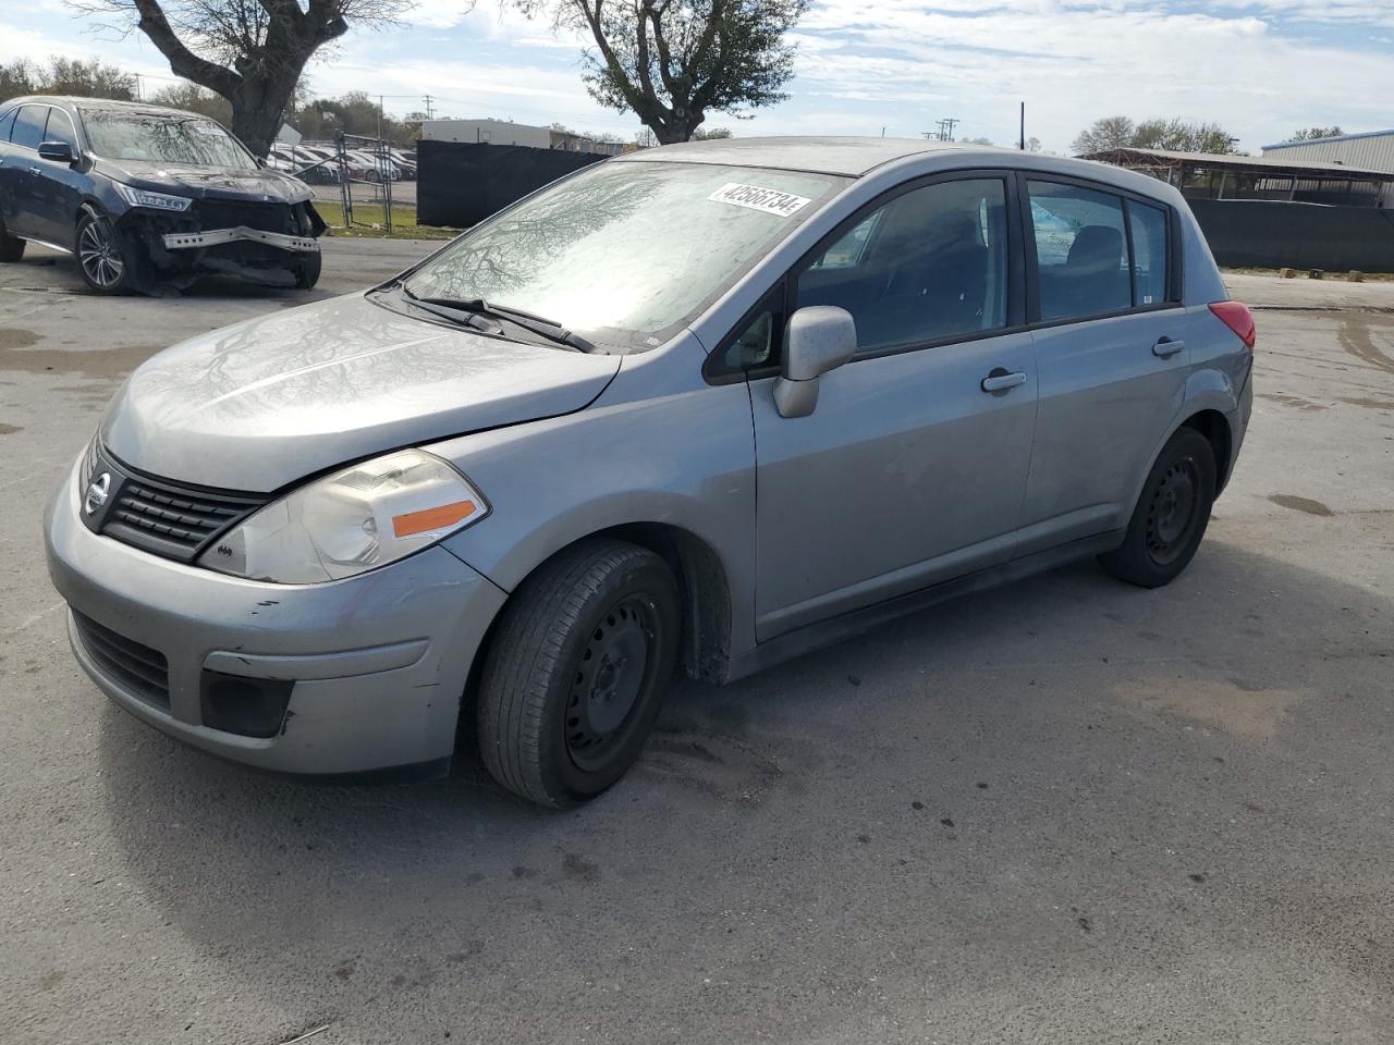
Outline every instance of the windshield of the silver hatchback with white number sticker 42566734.
[[661, 344], [848, 184], [834, 174], [601, 163], [467, 233], [404, 283], [527, 309], [620, 351]]

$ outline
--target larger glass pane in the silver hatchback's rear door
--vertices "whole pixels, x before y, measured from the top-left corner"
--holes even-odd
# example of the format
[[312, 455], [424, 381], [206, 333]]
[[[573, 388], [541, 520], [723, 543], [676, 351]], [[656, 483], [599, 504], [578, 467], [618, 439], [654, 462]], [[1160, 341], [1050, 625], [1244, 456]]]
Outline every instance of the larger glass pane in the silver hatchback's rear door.
[[1124, 201], [1108, 192], [1027, 181], [1040, 318], [1082, 319], [1132, 308]]

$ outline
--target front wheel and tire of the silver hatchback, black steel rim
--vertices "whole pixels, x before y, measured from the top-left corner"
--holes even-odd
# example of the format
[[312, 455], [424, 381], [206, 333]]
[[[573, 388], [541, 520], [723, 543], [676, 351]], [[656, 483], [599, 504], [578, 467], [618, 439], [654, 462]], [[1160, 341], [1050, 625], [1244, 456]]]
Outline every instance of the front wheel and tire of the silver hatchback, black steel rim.
[[480, 686], [480, 754], [510, 791], [566, 808], [638, 758], [677, 660], [677, 584], [652, 552], [585, 541], [514, 592]]

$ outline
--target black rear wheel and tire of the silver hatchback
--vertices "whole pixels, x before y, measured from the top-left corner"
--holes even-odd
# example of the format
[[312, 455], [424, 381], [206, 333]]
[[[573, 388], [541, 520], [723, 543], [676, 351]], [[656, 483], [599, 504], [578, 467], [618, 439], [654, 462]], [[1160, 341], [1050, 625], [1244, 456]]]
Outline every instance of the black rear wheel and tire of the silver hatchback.
[[1193, 428], [1178, 429], [1147, 474], [1122, 545], [1098, 556], [1098, 563], [1140, 588], [1170, 584], [1200, 546], [1214, 499], [1210, 440]]

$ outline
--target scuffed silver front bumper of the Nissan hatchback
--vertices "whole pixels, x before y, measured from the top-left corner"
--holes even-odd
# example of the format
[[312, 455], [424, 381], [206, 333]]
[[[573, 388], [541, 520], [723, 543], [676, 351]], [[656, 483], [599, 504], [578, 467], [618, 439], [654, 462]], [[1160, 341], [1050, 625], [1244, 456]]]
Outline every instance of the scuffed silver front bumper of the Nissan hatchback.
[[[336, 775], [449, 759], [475, 651], [505, 594], [443, 548], [347, 581], [277, 585], [184, 566], [82, 525], [68, 475], [45, 518], [49, 573], [74, 655], [142, 722], [262, 769]], [[106, 670], [88, 621], [163, 655], [167, 704]], [[293, 680], [280, 729], [251, 737], [202, 718], [206, 672]]]

